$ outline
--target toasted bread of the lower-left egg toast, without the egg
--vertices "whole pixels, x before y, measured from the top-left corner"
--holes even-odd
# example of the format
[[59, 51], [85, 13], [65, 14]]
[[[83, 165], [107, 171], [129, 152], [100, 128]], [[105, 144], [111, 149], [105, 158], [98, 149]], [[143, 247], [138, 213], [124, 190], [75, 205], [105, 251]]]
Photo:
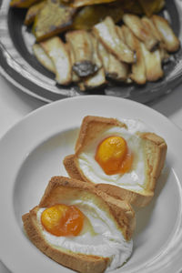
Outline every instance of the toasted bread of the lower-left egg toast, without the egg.
[[[40, 211], [40, 209], [45, 209], [46, 207], [51, 207], [56, 204], [71, 206], [75, 204], [74, 206], [77, 206], [79, 209], [83, 209], [84, 206], [85, 209], [88, 209], [86, 208], [87, 205], [83, 205], [86, 202], [94, 204], [100, 211], [105, 212], [106, 216], [116, 227], [116, 232], [119, 232], [119, 235], [124, 238], [125, 244], [126, 242], [128, 242], [128, 244], [132, 242], [131, 236], [136, 225], [135, 212], [132, 207], [125, 201], [107, 196], [106, 193], [96, 189], [89, 183], [83, 183], [82, 181], [68, 177], [51, 178], [48, 186], [45, 188], [45, 194], [39, 205], [22, 217], [25, 233], [35, 244], [36, 248], [39, 248], [46, 256], [67, 268], [83, 273], [104, 272], [106, 268], [110, 266], [111, 258], [106, 256], [102, 257], [102, 255], [95, 255], [93, 253], [82, 253], [81, 248], [79, 248], [79, 251], [75, 251], [76, 248], [70, 250], [62, 245], [55, 246], [48, 239], [52, 236], [45, 236], [44, 227], [41, 226], [41, 221], [38, 218], [38, 211]], [[87, 214], [85, 216], [88, 217]], [[91, 225], [95, 227], [94, 223], [91, 223]], [[86, 227], [84, 231], [85, 236]], [[101, 233], [102, 232], [103, 230]], [[81, 235], [79, 237], [81, 238]], [[72, 238], [69, 239], [72, 240]], [[84, 239], [84, 237], [82, 239]], [[89, 244], [87, 240], [86, 244]]]

